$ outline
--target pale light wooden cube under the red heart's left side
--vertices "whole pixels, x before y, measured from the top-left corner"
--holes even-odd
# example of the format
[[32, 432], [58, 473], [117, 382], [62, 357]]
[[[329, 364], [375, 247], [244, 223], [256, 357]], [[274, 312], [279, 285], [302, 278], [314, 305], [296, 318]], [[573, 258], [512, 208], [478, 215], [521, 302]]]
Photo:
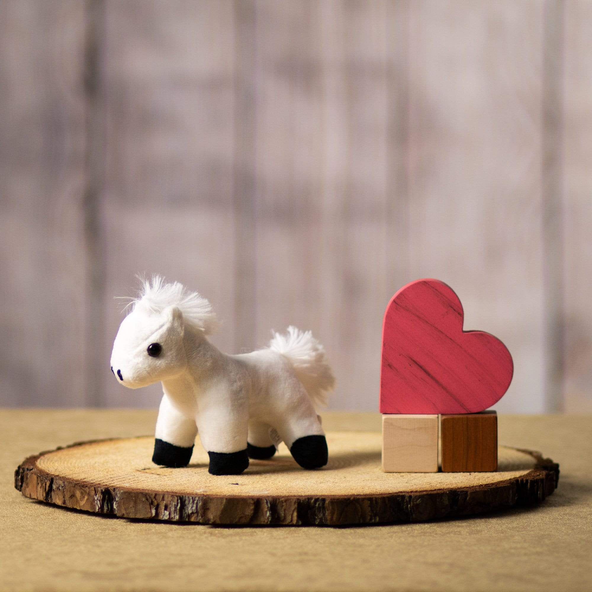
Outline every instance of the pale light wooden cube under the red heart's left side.
[[437, 472], [438, 416], [383, 415], [382, 470], [387, 473]]

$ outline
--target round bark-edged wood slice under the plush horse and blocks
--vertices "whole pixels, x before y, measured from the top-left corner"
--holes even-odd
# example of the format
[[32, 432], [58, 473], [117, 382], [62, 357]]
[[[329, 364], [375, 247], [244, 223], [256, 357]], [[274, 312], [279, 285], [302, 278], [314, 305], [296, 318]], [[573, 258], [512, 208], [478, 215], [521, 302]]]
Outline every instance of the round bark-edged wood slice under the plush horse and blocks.
[[220, 525], [359, 525], [421, 522], [540, 503], [559, 465], [499, 448], [491, 473], [385, 473], [381, 433], [330, 432], [329, 464], [305, 471], [281, 445], [242, 475], [208, 473], [198, 442], [185, 468], [153, 465], [154, 438], [77, 443], [30, 456], [15, 471], [26, 496], [122, 518]]

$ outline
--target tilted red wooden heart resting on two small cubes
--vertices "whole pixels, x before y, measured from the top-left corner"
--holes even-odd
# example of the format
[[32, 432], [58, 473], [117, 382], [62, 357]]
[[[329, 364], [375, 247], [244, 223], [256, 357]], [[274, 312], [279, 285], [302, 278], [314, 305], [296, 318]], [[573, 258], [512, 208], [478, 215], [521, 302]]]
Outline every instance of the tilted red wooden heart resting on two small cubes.
[[437, 279], [395, 294], [382, 325], [381, 413], [477, 413], [510, 386], [514, 365], [497, 337], [463, 331], [461, 301]]

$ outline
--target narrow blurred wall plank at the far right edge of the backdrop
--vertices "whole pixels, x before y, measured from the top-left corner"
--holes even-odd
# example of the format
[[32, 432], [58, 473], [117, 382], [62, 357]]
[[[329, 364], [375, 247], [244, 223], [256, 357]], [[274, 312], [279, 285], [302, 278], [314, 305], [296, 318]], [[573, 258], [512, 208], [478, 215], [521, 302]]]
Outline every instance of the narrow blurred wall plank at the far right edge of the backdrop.
[[567, 2], [564, 15], [562, 236], [565, 409], [592, 408], [592, 4]]

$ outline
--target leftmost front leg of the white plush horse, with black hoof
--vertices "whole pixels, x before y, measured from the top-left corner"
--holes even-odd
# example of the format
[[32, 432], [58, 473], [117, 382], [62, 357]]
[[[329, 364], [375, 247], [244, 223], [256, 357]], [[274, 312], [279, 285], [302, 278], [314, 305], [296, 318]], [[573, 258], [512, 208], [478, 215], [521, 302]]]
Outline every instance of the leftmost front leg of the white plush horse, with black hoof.
[[191, 460], [197, 426], [194, 419], [184, 416], [163, 395], [156, 420], [156, 439], [152, 462], [178, 468]]

